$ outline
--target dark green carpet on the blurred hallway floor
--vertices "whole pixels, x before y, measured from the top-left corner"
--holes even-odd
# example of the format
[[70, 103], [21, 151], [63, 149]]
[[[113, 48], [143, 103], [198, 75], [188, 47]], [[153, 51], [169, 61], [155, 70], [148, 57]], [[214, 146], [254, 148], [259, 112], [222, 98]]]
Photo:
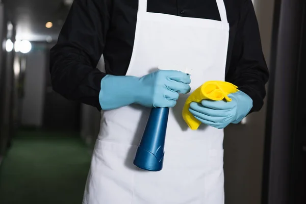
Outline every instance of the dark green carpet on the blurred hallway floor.
[[0, 166], [0, 203], [82, 203], [89, 166], [78, 136], [20, 132]]

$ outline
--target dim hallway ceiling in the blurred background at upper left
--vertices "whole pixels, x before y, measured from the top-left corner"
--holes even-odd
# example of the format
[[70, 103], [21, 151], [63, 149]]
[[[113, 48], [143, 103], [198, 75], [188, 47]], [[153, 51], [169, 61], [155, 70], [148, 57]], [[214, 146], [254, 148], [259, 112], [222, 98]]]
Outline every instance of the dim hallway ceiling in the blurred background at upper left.
[[[3, 0], [8, 18], [16, 25], [16, 39], [56, 40], [73, 0]], [[53, 27], [45, 28], [46, 22]]]

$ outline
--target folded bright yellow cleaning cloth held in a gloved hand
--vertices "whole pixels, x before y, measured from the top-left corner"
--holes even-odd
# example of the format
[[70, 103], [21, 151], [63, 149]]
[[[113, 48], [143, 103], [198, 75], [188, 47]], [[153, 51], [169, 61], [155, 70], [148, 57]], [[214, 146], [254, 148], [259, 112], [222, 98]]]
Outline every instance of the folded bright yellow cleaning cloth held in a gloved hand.
[[208, 81], [194, 90], [187, 98], [183, 108], [183, 118], [191, 130], [197, 130], [201, 122], [197, 120], [190, 112], [191, 102], [200, 103], [204, 99], [232, 101], [227, 95], [239, 91], [234, 84], [223, 81]]

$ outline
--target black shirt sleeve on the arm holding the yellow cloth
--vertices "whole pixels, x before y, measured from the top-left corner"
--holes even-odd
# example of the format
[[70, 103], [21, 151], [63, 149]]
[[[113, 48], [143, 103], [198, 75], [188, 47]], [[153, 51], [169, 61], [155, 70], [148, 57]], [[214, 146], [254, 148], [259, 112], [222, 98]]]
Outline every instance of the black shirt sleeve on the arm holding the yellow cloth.
[[243, 2], [231, 65], [225, 80], [235, 84], [252, 98], [253, 108], [250, 112], [253, 112], [259, 111], [263, 106], [269, 72], [253, 4], [251, 0]]

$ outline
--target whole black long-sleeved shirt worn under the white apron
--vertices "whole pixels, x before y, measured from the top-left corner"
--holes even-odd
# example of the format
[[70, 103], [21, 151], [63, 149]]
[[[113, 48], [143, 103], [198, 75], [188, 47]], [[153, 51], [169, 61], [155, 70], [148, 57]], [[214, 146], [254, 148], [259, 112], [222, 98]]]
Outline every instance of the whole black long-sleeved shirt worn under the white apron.
[[[216, 0], [147, 0], [148, 12], [220, 20]], [[259, 111], [266, 95], [268, 69], [251, 0], [224, 0], [230, 23], [225, 81], [253, 100]], [[106, 74], [125, 75], [137, 21], [138, 0], [74, 0], [50, 50], [50, 73], [56, 92], [101, 109], [100, 81]], [[103, 54], [106, 73], [96, 69]]]

